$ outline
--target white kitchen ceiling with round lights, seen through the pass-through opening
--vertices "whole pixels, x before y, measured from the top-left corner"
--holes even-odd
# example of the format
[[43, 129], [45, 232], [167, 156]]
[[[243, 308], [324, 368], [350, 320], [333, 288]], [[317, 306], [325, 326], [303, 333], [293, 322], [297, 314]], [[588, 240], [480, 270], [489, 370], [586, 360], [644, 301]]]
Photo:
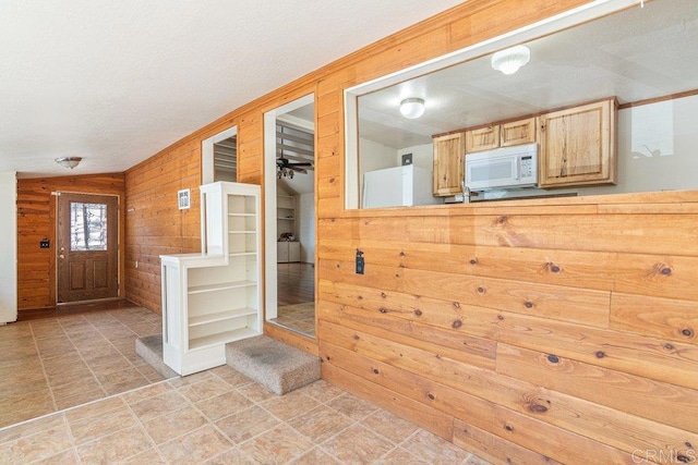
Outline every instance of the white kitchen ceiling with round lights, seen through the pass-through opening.
[[[359, 97], [360, 135], [388, 147], [432, 135], [616, 96], [621, 103], [698, 89], [698, 1], [655, 0], [527, 44], [516, 74], [491, 54]], [[399, 102], [425, 100], [407, 120]]]

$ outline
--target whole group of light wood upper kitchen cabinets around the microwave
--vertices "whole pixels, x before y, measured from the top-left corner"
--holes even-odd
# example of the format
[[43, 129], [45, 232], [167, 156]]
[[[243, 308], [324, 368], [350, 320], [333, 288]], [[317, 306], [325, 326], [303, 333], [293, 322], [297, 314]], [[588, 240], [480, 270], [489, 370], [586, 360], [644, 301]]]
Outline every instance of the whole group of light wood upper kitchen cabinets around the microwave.
[[462, 192], [465, 157], [482, 150], [540, 143], [539, 186], [616, 182], [615, 98], [434, 137], [434, 196]]

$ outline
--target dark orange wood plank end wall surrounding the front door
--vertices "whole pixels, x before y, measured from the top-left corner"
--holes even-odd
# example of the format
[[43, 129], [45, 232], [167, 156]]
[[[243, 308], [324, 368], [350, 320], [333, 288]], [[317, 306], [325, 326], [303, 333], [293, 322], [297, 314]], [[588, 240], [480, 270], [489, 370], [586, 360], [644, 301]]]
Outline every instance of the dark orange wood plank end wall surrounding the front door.
[[[123, 203], [123, 174], [17, 180], [17, 309], [56, 305], [56, 197], [52, 192], [118, 195]], [[123, 209], [120, 221], [123, 224]], [[123, 232], [123, 231], [122, 231]], [[39, 248], [47, 237], [50, 248]], [[123, 237], [120, 256], [123, 257]], [[123, 270], [123, 264], [120, 267]], [[123, 273], [119, 280], [123, 282]]]

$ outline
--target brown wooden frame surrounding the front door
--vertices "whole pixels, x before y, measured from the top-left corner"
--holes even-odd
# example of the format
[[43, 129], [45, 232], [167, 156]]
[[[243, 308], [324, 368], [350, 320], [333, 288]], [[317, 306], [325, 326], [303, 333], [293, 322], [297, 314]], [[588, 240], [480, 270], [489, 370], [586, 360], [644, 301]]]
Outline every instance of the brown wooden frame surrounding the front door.
[[74, 305], [74, 303], [72, 302], [68, 302], [68, 303], [58, 303], [58, 200], [59, 200], [59, 196], [61, 194], [79, 194], [79, 195], [99, 195], [99, 196], [104, 196], [104, 197], [117, 197], [117, 206], [118, 206], [118, 212], [117, 212], [117, 221], [118, 221], [118, 225], [117, 225], [117, 235], [119, 237], [119, 244], [117, 247], [117, 279], [118, 279], [118, 291], [117, 291], [117, 297], [111, 297], [111, 298], [105, 298], [105, 299], [99, 299], [99, 301], [111, 301], [115, 298], [123, 298], [123, 280], [124, 280], [124, 267], [123, 267], [123, 257], [125, 256], [125, 244], [124, 244], [124, 234], [125, 234], [125, 228], [124, 228], [124, 220], [125, 220], [125, 211], [122, 205], [122, 196], [119, 194], [111, 194], [111, 193], [100, 193], [100, 192], [80, 192], [80, 191], [65, 191], [65, 189], [60, 189], [60, 191], [55, 191], [51, 192], [51, 195], [56, 198], [55, 201], [50, 203], [50, 208], [49, 208], [49, 218], [51, 220], [51, 224], [53, 224], [53, 228], [51, 228], [50, 231], [50, 244], [51, 244], [51, 252], [53, 253], [53, 259], [50, 261], [50, 267], [49, 267], [49, 272], [48, 272], [48, 279], [49, 279], [49, 283], [52, 283], [52, 285], [49, 285], [49, 301], [50, 303], [56, 307], [56, 306], [62, 306], [62, 305]]

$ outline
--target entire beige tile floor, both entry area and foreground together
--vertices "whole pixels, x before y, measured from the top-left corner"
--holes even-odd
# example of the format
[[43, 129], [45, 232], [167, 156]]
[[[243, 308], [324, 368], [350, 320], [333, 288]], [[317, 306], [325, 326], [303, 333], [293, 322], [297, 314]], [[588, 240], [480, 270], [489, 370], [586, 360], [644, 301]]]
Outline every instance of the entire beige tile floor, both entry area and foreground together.
[[325, 381], [279, 397], [229, 367], [163, 380], [134, 350], [159, 332], [141, 307], [0, 327], [0, 463], [485, 463]]

